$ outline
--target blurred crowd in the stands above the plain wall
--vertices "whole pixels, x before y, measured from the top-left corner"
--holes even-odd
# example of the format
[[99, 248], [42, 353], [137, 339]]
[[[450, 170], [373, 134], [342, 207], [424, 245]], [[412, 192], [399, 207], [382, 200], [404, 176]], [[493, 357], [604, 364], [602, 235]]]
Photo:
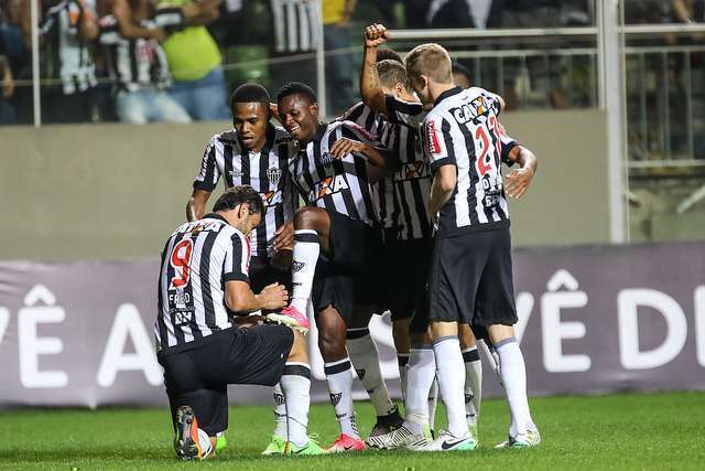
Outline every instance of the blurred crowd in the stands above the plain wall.
[[[228, 119], [227, 97], [241, 83], [260, 82], [272, 93], [293, 79], [315, 85], [321, 22], [329, 114], [356, 99], [361, 30], [370, 22], [390, 29], [595, 24], [593, 0], [323, 0], [321, 11], [313, 0], [0, 0], [2, 125], [33, 121], [31, 1], [39, 9], [45, 124]], [[627, 0], [625, 21], [703, 22], [705, 1]], [[482, 45], [466, 41], [459, 47]], [[501, 77], [482, 78], [510, 98], [522, 76], [543, 79], [549, 106], [589, 106], [589, 85], [573, 86], [578, 93], [570, 96], [562, 92], [565, 61], [543, 68], [536, 61], [524, 58]], [[570, 79], [588, 83], [586, 74], [572, 68]]]

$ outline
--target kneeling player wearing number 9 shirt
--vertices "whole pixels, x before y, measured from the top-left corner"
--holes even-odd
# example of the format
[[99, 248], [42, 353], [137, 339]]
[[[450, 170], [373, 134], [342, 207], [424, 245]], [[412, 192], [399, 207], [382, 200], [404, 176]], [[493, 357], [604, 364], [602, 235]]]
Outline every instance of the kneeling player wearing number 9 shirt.
[[[251, 186], [225, 192], [213, 213], [180, 226], [166, 240], [154, 323], [156, 356], [174, 422], [174, 448], [184, 460], [215, 453], [228, 427], [228, 384], [281, 384], [289, 417], [286, 452], [319, 454], [306, 433], [311, 367], [303, 336], [285, 325], [240, 329], [234, 319], [286, 306], [272, 283], [250, 288], [249, 234], [264, 215]], [[304, 317], [288, 318], [306, 331]]]

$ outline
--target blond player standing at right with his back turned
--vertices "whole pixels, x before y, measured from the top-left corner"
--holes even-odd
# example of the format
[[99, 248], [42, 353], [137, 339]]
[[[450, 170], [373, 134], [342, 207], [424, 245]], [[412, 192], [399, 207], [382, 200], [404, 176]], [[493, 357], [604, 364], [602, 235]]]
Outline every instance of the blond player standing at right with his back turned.
[[[437, 44], [416, 46], [405, 57], [412, 87], [424, 104], [433, 104], [423, 131], [433, 172], [429, 215], [435, 228], [430, 332], [448, 418], [448, 430], [422, 449], [469, 450], [477, 443], [465, 420], [458, 323], [486, 327], [499, 355], [511, 411], [509, 439], [500, 446], [531, 447], [541, 438], [529, 410], [524, 360], [513, 329], [509, 208], [500, 173], [505, 130], [497, 119], [501, 100], [482, 88], [456, 86], [451, 64]], [[507, 175], [507, 194], [521, 197], [536, 158], [516, 146], [506, 163], [520, 165]]]

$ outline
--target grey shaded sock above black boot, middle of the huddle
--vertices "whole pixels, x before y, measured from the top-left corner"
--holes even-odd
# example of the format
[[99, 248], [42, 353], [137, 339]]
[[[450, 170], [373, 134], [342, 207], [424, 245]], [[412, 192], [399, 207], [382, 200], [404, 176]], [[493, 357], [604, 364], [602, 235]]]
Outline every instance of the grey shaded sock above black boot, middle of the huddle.
[[352, 366], [370, 396], [377, 416], [388, 416], [394, 408], [379, 366], [377, 344], [369, 329], [348, 329], [346, 344]]

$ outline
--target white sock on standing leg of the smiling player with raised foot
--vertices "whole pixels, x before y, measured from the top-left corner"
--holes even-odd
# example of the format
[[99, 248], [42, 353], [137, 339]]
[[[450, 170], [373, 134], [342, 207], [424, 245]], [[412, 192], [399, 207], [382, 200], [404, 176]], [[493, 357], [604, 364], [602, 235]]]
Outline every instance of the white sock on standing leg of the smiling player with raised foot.
[[350, 358], [346, 357], [337, 362], [324, 364], [330, 404], [335, 416], [340, 424], [340, 432], [352, 438], [360, 438], [355, 421], [352, 409], [352, 374], [350, 372]]

